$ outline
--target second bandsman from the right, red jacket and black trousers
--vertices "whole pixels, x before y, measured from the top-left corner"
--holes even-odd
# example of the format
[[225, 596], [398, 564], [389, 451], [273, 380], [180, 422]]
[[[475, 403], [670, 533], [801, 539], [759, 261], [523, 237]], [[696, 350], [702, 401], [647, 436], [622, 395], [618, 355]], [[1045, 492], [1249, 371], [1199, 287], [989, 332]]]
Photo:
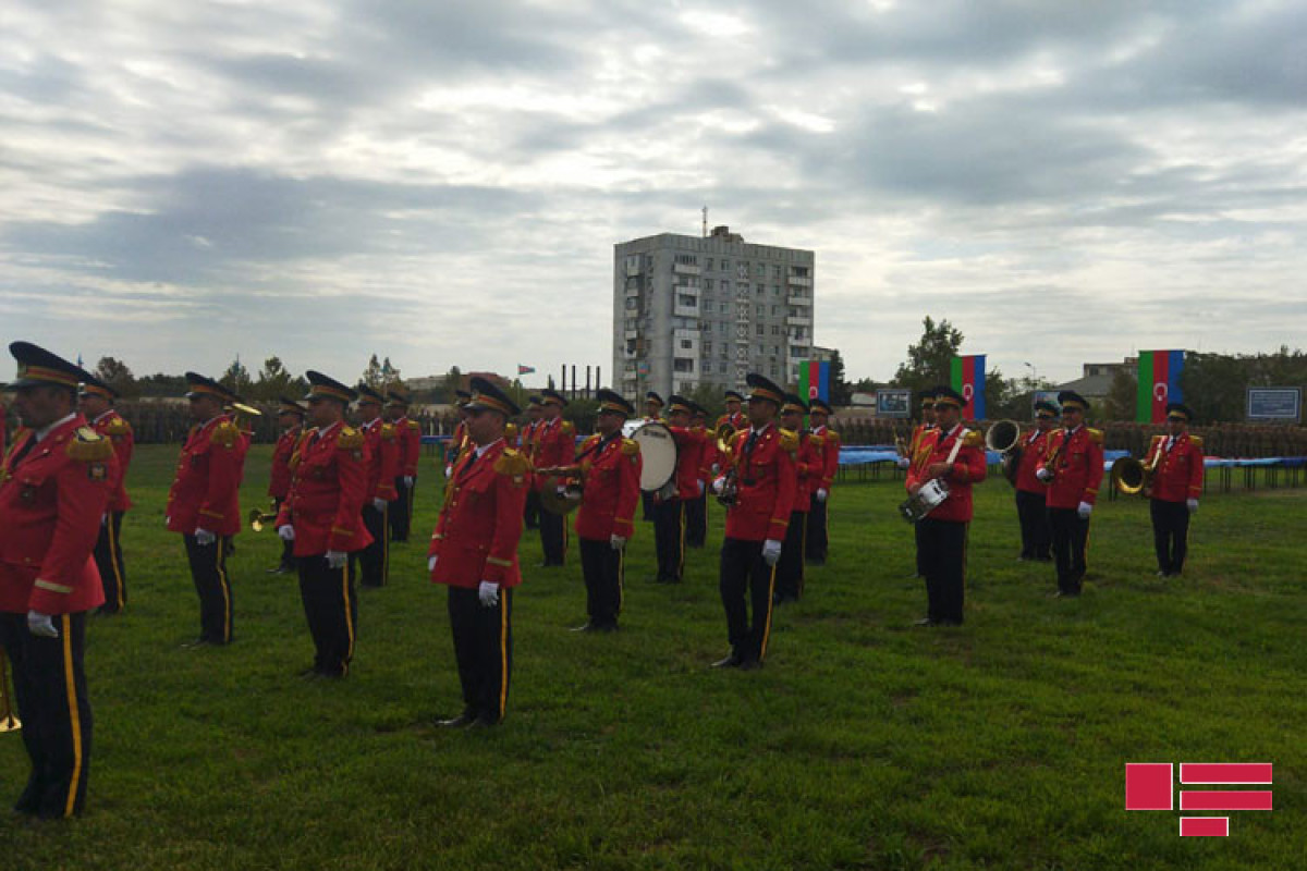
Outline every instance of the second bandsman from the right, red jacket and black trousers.
[[1103, 479], [1103, 434], [1085, 426], [1089, 402], [1074, 390], [1057, 394], [1063, 428], [1048, 435], [1035, 475], [1048, 484], [1048, 526], [1057, 564], [1059, 597], [1080, 595], [1085, 581], [1089, 516]]

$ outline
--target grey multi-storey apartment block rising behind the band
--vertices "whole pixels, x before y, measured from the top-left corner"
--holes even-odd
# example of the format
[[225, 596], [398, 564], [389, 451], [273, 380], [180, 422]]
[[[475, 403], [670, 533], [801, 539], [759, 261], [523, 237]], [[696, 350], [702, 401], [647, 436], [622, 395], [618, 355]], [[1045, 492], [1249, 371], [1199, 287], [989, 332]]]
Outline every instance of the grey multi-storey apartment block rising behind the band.
[[742, 390], [749, 372], [795, 383], [813, 353], [814, 266], [812, 251], [749, 244], [727, 227], [614, 245], [617, 389]]

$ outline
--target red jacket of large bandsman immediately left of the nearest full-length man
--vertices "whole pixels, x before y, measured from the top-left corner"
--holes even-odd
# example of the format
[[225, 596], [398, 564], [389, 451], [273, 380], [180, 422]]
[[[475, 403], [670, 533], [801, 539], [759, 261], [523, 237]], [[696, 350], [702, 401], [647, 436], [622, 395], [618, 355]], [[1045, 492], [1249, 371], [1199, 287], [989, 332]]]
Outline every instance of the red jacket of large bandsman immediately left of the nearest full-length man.
[[350, 554], [372, 543], [362, 515], [369, 462], [358, 430], [333, 423], [308, 431], [293, 462], [290, 498], [277, 513], [278, 528], [295, 528], [295, 556]]

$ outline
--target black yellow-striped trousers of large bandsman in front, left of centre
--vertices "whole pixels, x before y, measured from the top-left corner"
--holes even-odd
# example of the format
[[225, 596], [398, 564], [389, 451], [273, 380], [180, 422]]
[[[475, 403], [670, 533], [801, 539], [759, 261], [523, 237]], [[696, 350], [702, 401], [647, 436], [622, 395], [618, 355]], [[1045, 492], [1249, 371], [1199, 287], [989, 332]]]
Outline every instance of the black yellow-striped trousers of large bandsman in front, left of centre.
[[512, 675], [512, 590], [499, 588], [499, 603], [486, 607], [477, 588], [451, 586], [450, 629], [464, 713], [503, 722]]

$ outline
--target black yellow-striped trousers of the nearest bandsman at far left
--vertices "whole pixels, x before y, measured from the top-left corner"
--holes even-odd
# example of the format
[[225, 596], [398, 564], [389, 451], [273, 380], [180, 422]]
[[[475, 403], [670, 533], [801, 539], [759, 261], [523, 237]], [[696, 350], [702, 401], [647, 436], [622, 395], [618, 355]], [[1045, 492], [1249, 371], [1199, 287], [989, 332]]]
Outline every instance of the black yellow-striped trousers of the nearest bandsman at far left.
[[0, 645], [13, 673], [13, 700], [31, 773], [14, 810], [46, 819], [81, 814], [90, 774], [86, 614], [52, 618], [58, 639], [27, 631], [26, 614], [0, 614]]

